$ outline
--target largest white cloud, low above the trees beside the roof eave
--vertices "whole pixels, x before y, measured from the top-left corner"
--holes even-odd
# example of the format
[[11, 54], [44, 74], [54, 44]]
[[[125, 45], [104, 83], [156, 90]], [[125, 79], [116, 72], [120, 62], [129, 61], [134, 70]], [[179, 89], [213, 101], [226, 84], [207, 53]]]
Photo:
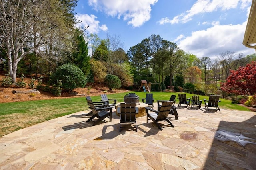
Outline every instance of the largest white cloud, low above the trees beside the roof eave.
[[247, 21], [237, 25], [216, 24], [206, 30], [192, 32], [192, 35], [182, 39], [178, 46], [198, 58], [216, 58], [216, 55], [225, 51], [252, 54], [254, 49], [242, 44], [246, 24]]

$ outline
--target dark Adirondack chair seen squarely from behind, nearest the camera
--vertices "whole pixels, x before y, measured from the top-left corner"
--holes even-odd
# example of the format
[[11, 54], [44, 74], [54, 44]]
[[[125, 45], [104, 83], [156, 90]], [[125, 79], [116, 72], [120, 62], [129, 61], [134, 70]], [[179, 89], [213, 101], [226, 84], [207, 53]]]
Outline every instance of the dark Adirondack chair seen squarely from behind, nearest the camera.
[[[136, 123], [136, 114], [138, 114], [138, 107], [135, 107], [135, 103], [121, 103], [120, 107], [117, 108], [118, 114], [120, 114], [120, 124], [119, 132], [122, 128], [136, 128], [137, 132], [137, 123]], [[122, 126], [122, 124], [134, 124], [134, 127]]]

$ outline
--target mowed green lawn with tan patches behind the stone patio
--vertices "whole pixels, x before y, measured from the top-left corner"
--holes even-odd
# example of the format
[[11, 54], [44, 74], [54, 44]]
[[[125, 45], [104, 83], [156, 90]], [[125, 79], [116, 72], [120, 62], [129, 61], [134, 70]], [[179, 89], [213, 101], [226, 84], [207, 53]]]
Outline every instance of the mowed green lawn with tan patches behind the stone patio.
[[[125, 92], [118, 94], [108, 94], [109, 99], [116, 99], [117, 102], [124, 101], [124, 95], [136, 93], [142, 98], [146, 97], [145, 92]], [[170, 92], [152, 92], [154, 101], [169, 100], [172, 94], [176, 95], [176, 106], [178, 105], [178, 93]], [[194, 94], [186, 94], [190, 98]], [[199, 95], [200, 96], [200, 95]], [[100, 96], [91, 96], [92, 101], [100, 101]], [[208, 96], [200, 96], [200, 100], [208, 100]], [[220, 99], [220, 109], [233, 109], [241, 111], [250, 111], [246, 107], [231, 104], [230, 100]], [[204, 102], [202, 103], [202, 108]], [[51, 100], [34, 100], [27, 102], [12, 102], [0, 104], [0, 137], [13, 131], [28, 127], [50, 119], [76, 113], [88, 109], [85, 97], [63, 98]]]

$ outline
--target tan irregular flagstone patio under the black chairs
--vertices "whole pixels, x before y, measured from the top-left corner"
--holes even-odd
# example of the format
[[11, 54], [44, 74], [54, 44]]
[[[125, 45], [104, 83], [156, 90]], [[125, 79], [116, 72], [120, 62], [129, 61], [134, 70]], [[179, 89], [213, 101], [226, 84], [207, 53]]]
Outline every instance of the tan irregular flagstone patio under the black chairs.
[[137, 118], [138, 132], [119, 132], [115, 112], [112, 122], [92, 127], [89, 110], [20, 129], [0, 137], [0, 170], [255, 169], [255, 144], [214, 139], [218, 130], [256, 139], [255, 112], [177, 111], [179, 120], [169, 117], [175, 127], [162, 131], [144, 116]]

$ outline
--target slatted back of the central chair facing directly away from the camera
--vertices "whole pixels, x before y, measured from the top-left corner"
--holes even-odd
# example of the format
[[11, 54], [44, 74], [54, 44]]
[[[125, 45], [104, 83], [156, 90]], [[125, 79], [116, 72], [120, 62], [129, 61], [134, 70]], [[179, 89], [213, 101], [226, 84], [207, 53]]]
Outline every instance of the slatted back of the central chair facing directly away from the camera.
[[136, 109], [135, 103], [121, 103], [120, 104], [120, 121], [121, 122], [135, 122]]

